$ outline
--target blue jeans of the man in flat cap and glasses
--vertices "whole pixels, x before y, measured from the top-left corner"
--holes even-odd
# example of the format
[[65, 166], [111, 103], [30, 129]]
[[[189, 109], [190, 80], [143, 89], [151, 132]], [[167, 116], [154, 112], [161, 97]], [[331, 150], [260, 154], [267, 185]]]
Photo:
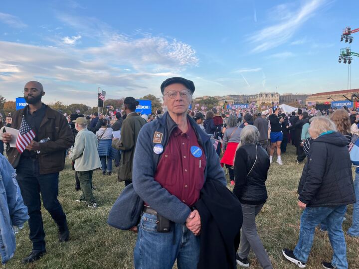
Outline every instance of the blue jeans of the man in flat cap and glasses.
[[196, 269], [199, 237], [185, 225], [172, 223], [171, 232], [156, 230], [157, 216], [143, 213], [134, 251], [136, 269]]

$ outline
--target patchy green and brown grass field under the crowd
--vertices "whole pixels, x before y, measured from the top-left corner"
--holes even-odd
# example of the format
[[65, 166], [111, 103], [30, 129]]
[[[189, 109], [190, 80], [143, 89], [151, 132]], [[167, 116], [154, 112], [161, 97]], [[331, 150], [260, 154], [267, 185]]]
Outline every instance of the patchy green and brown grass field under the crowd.
[[[298, 240], [301, 210], [297, 206], [297, 186], [303, 164], [295, 162], [294, 148], [289, 145], [283, 154], [283, 166], [273, 163], [269, 170], [267, 188], [268, 201], [257, 217], [259, 235], [268, 251], [273, 267], [291, 269], [296, 266], [284, 261], [282, 248], [294, 248]], [[276, 156], [274, 156], [276, 160]], [[100, 170], [94, 173], [94, 195], [100, 208], [88, 209], [75, 202], [80, 193], [74, 188], [74, 171], [66, 162], [60, 173], [59, 200], [67, 214], [70, 241], [59, 243], [57, 227], [46, 210], [42, 210], [46, 233], [46, 255], [39, 261], [22, 265], [21, 259], [31, 251], [28, 226], [17, 234], [17, 250], [14, 258], [6, 264], [13, 269], [113, 269], [133, 268], [133, 248], [136, 235], [132, 232], [116, 230], [107, 225], [106, 219], [124, 182], [117, 181], [116, 173], [102, 176]], [[353, 207], [349, 206], [347, 221], [343, 229], [347, 231], [352, 223]], [[359, 239], [346, 236], [350, 269], [359, 269]], [[327, 233], [316, 230], [312, 252], [307, 268], [322, 268], [322, 260], [330, 261], [332, 249]], [[249, 256], [250, 268], [259, 269], [253, 253]]]

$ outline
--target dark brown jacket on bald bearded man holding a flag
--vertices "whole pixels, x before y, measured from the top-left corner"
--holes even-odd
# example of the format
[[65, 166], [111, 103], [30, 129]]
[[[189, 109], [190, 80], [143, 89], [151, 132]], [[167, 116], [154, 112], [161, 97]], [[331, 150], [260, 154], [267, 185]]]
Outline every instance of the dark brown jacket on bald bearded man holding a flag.
[[[11, 128], [20, 129], [22, 115], [24, 115], [26, 110], [27, 107], [13, 114]], [[40, 143], [40, 154], [38, 154], [40, 174], [57, 173], [63, 170], [65, 166], [65, 151], [75, 141], [66, 118], [61, 113], [47, 107], [40, 129], [36, 135], [39, 141], [43, 138], [50, 138], [50, 141]], [[16, 168], [21, 154], [17, 151], [16, 147], [10, 147], [6, 154], [12, 167]]]

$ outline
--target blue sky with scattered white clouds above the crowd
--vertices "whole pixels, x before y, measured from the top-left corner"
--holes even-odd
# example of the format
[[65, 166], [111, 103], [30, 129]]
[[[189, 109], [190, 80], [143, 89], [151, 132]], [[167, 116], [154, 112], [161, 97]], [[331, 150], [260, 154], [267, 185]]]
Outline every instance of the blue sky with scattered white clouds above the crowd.
[[[0, 94], [13, 100], [38, 80], [46, 103], [94, 106], [97, 87], [108, 98], [160, 97], [171, 76], [193, 80], [194, 97], [343, 90], [340, 35], [359, 28], [358, 9], [357, 0], [2, 0]], [[351, 68], [359, 88], [359, 58]]]

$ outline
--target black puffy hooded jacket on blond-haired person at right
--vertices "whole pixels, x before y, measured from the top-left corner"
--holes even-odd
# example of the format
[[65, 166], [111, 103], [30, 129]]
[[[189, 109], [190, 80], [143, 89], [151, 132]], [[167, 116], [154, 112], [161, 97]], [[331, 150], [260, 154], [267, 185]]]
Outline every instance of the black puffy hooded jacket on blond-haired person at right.
[[339, 132], [324, 134], [311, 141], [298, 187], [300, 201], [309, 207], [356, 202], [347, 144], [347, 138]]

